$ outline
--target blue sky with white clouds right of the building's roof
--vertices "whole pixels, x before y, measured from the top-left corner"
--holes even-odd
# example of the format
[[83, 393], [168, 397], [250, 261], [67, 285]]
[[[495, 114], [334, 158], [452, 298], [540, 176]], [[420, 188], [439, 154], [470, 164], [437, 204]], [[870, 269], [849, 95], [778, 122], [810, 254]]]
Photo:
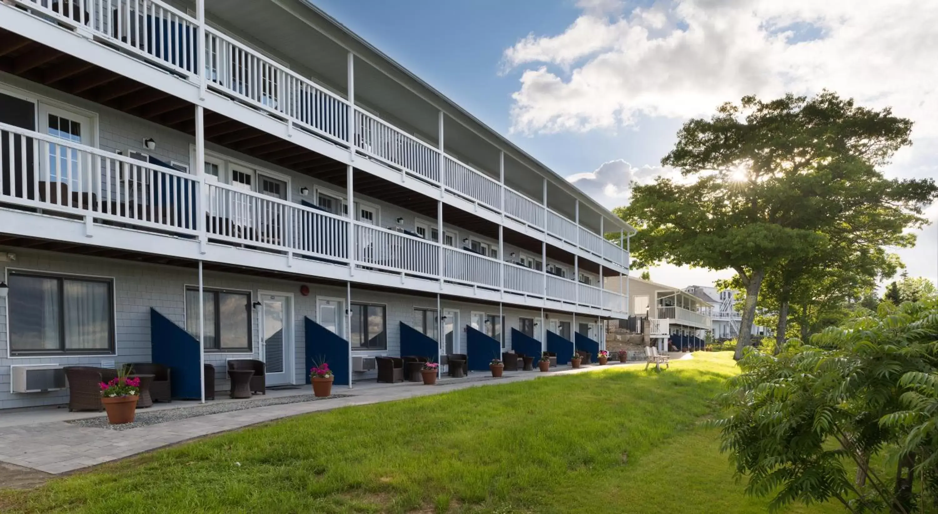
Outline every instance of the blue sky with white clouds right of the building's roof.
[[[938, 2], [311, 0], [607, 207], [658, 175], [690, 117], [822, 88], [915, 121], [885, 172], [938, 177]], [[927, 211], [938, 219], [938, 205]], [[896, 249], [938, 280], [938, 228]], [[660, 265], [707, 285], [732, 272]]]

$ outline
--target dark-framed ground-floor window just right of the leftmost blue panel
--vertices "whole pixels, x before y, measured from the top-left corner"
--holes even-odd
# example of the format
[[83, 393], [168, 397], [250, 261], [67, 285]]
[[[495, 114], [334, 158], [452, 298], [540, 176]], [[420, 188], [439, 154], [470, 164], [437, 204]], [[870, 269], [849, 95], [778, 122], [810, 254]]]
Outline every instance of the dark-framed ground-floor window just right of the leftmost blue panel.
[[[203, 292], [204, 346], [215, 352], [250, 352], [250, 293]], [[186, 330], [199, 338], [199, 290], [186, 289]]]

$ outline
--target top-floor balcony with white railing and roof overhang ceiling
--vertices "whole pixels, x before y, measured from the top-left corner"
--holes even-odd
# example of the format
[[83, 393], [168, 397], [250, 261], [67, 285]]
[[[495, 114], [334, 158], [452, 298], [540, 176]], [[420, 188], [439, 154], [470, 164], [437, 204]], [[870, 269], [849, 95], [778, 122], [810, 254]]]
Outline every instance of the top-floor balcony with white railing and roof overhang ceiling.
[[312, 136], [347, 152], [350, 164], [380, 165], [401, 183], [438, 189], [522, 234], [628, 270], [628, 252], [602, 236], [628, 225], [322, 13], [294, 0], [219, 1], [200, 23], [194, 2], [174, 3], [14, 0], [56, 29], [165, 71], [168, 81], [249, 107], [280, 124], [284, 139]]

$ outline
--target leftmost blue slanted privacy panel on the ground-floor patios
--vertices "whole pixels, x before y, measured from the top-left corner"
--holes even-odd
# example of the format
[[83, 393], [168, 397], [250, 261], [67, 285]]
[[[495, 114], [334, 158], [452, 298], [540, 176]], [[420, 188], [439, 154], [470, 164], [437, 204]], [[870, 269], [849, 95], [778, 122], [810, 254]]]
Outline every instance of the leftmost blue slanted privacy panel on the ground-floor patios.
[[170, 369], [173, 398], [202, 399], [199, 341], [150, 308], [151, 361]]

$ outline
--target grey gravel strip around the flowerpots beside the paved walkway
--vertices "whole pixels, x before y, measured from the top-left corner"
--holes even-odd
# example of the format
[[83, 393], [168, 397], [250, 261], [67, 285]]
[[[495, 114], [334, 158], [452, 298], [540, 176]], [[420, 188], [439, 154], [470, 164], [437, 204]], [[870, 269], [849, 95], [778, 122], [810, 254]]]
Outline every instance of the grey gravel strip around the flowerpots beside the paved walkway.
[[282, 405], [284, 403], [299, 403], [301, 401], [328, 400], [331, 398], [347, 398], [352, 395], [332, 395], [326, 398], [317, 398], [311, 394], [282, 396], [280, 398], [267, 398], [262, 400], [246, 400], [226, 403], [206, 403], [194, 407], [182, 407], [178, 409], [162, 409], [159, 411], [137, 411], [133, 423], [123, 425], [108, 424], [107, 416], [88, 417], [85, 419], [72, 419], [66, 421], [79, 427], [90, 427], [93, 429], [108, 429], [112, 431], [127, 431], [149, 425], [158, 425], [167, 421], [177, 421], [195, 416], [208, 416], [211, 414], [230, 413], [233, 411], [243, 411], [254, 407], [266, 407], [267, 405]]

